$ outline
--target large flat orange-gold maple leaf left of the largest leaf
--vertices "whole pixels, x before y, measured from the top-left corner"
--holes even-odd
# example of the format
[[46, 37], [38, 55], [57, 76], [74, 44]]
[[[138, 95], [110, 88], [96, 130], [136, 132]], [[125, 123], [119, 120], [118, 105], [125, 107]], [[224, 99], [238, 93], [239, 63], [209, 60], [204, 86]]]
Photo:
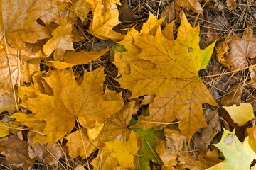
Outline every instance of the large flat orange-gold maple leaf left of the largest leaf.
[[[44, 79], [53, 89], [53, 96], [41, 93], [40, 86], [28, 87], [22, 92], [21, 98], [26, 91], [29, 98], [24, 98], [21, 106], [28, 108], [33, 114], [12, 115], [24, 125], [45, 134], [36, 134], [33, 143], [54, 143], [60, 140], [74, 128], [76, 120], [84, 128], [94, 128], [96, 123], [104, 123], [122, 108], [122, 98], [114, 92], [102, 95], [102, 83], [105, 79], [103, 69], [85, 72], [80, 86], [71, 69], [54, 70], [50, 77]], [[36, 94], [31, 93], [35, 90]], [[114, 97], [105, 98], [106, 96]], [[45, 124], [41, 125], [40, 121]]]

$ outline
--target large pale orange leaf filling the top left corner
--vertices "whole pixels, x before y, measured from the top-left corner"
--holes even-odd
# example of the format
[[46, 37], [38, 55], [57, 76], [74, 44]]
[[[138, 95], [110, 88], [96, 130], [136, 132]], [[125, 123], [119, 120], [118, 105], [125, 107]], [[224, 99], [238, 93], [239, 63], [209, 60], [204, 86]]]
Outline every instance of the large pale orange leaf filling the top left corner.
[[48, 38], [48, 30], [39, 25], [36, 20], [46, 16], [55, 8], [51, 1], [25, 0], [21, 3], [15, 0], [4, 0], [1, 1], [0, 6], [1, 45], [6, 46], [6, 39], [11, 47], [24, 49], [25, 42], [34, 43], [37, 40]]

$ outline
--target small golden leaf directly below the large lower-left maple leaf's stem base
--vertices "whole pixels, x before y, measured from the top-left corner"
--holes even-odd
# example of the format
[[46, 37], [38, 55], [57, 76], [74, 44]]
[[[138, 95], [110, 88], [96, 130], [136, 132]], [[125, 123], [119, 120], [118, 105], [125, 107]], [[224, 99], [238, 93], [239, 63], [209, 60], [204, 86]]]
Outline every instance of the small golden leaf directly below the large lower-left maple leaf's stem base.
[[85, 159], [97, 149], [97, 142], [91, 142], [87, 137], [85, 128], [70, 133], [66, 140], [68, 140], [68, 154], [70, 157], [82, 157]]

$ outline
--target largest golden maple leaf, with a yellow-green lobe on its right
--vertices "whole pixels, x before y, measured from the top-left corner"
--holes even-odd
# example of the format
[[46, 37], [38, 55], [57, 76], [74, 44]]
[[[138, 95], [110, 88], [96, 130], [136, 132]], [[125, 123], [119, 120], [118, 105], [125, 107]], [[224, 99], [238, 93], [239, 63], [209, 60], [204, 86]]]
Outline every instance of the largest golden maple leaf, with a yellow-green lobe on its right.
[[[122, 74], [117, 80], [124, 89], [132, 91], [131, 98], [156, 95], [146, 120], [181, 120], [181, 131], [189, 138], [198, 128], [207, 126], [202, 104], [217, 106], [198, 76], [198, 71], [206, 68], [215, 43], [201, 50], [199, 26], [192, 28], [184, 14], [176, 40], [171, 34], [173, 25], [161, 30], [159, 21], [149, 16], [141, 33], [132, 29], [120, 42], [127, 52], [115, 56], [114, 63]], [[132, 50], [136, 52], [131, 53]], [[144, 129], [153, 126], [161, 129], [166, 125], [140, 124]]]

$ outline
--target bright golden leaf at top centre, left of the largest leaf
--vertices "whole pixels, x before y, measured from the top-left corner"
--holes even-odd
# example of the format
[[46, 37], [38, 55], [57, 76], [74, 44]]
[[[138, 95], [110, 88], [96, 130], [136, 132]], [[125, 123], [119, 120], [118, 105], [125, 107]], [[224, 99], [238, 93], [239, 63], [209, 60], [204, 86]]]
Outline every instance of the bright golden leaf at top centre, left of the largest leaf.
[[102, 4], [97, 2], [95, 9], [92, 9], [92, 22], [88, 32], [102, 40], [122, 40], [124, 35], [112, 30], [119, 22], [119, 12], [117, 8], [107, 9], [102, 13]]

